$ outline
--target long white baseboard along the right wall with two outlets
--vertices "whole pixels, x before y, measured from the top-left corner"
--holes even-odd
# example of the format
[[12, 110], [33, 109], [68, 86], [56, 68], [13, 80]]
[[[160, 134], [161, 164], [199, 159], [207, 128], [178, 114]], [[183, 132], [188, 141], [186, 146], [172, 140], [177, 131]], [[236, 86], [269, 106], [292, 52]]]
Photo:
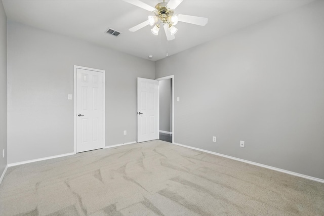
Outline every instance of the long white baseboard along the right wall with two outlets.
[[182, 147], [186, 147], [186, 148], [189, 148], [189, 149], [194, 149], [194, 150], [198, 150], [198, 151], [218, 155], [218, 156], [221, 156], [221, 157], [226, 157], [226, 158], [237, 160], [237, 161], [244, 162], [244, 163], [250, 163], [252, 165], [261, 166], [261, 167], [272, 169], [272, 170], [275, 170], [275, 171], [284, 172], [286, 174], [293, 175], [293, 176], [298, 176], [298, 177], [301, 177], [301, 178], [304, 178], [304, 179], [309, 179], [309, 180], [313, 180], [313, 181], [316, 181], [316, 182], [324, 183], [324, 179], [319, 179], [319, 178], [315, 178], [315, 177], [311, 177], [311, 176], [306, 176], [306, 175], [303, 175], [303, 174], [299, 174], [297, 172], [292, 172], [292, 171], [289, 171], [289, 170], [280, 169], [280, 168], [276, 168], [276, 167], [273, 167], [273, 166], [264, 165], [262, 163], [256, 163], [256, 162], [252, 162], [252, 161], [249, 161], [249, 160], [244, 160], [244, 159], [240, 159], [240, 158], [237, 158], [237, 157], [228, 156], [228, 155], [225, 155], [225, 154], [219, 154], [219, 153], [204, 150], [204, 149], [199, 149], [199, 148], [195, 148], [195, 147], [191, 147], [191, 146], [186, 146], [186, 145], [182, 145], [182, 144], [179, 144], [179, 143], [173, 143], [173, 144], [178, 145], [178, 146], [182, 146]]

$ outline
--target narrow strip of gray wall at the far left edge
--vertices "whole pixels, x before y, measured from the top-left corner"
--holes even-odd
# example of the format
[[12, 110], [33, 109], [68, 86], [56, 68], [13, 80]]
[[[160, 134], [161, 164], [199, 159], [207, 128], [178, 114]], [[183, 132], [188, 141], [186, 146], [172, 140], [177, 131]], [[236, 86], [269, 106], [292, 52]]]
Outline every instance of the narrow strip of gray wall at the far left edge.
[[[5, 149], [5, 157], [2, 153]], [[0, 177], [7, 166], [7, 17], [0, 1]]]

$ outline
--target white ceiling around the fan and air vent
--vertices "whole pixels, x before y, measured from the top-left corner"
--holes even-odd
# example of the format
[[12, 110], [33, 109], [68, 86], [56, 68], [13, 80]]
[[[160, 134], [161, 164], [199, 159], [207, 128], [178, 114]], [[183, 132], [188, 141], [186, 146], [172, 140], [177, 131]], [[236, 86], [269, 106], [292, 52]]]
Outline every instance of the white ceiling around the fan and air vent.
[[[285, 13], [314, 0], [184, 0], [176, 14], [207, 17], [206, 26], [178, 23], [176, 39], [151, 33], [151, 26], [128, 29], [153, 13], [122, 0], [2, 0], [8, 20], [81, 38], [99, 46], [152, 61], [202, 44], [214, 38]], [[143, 0], [154, 7], [161, 0]], [[168, 0], [166, 1], [168, 2]], [[108, 28], [122, 32], [118, 37]]]

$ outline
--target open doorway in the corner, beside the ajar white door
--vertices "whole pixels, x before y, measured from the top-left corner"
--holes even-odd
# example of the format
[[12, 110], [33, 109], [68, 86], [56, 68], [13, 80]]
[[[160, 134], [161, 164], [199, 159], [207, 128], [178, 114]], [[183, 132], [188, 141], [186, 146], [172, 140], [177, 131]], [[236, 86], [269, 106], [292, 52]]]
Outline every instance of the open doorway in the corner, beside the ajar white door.
[[159, 139], [174, 142], [174, 75], [159, 81]]

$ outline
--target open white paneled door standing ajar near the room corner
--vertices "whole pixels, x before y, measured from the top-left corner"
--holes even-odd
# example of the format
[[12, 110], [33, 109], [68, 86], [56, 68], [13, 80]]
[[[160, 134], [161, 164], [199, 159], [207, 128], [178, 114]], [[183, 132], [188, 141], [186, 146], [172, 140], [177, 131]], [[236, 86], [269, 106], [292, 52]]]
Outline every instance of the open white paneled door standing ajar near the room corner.
[[158, 81], [137, 78], [137, 142], [158, 139]]

